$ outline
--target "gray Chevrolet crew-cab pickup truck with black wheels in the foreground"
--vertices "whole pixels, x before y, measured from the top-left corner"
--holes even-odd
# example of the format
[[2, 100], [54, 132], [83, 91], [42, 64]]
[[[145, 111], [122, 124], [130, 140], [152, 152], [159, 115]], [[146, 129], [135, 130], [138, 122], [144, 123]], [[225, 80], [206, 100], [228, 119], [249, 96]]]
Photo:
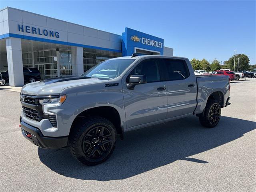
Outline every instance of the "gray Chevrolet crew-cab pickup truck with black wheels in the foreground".
[[187, 58], [106, 60], [79, 77], [26, 84], [22, 134], [41, 148], [69, 147], [86, 165], [105, 161], [124, 132], [190, 115], [208, 128], [230, 97], [228, 76], [195, 76]]

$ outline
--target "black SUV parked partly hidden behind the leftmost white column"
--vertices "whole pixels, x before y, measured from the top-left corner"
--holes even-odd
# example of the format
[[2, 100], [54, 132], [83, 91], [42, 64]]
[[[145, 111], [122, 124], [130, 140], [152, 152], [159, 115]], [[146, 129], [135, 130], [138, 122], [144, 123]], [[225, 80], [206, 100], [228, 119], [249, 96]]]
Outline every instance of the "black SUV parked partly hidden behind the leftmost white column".
[[[23, 68], [24, 84], [41, 80], [40, 72], [34, 67]], [[0, 85], [9, 83], [8, 68], [0, 70]]]

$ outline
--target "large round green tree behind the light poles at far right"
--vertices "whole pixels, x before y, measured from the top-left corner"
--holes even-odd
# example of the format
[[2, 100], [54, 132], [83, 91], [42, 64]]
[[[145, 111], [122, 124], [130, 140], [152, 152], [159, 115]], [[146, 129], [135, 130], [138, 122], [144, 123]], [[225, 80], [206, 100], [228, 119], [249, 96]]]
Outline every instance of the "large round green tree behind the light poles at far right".
[[[248, 70], [250, 67], [250, 59], [246, 54], [237, 54], [236, 55], [236, 65], [235, 71], [237, 71], [238, 59], [239, 59], [239, 69], [238, 70]], [[228, 65], [231, 70], [234, 70], [234, 55], [229, 58], [229, 60], [225, 61], [224, 64]]]

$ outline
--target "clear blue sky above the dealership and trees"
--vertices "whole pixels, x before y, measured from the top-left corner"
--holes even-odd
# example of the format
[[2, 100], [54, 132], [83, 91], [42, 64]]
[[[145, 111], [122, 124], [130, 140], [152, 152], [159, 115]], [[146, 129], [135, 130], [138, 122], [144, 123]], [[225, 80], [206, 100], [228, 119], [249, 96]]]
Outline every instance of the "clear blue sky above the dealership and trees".
[[120, 35], [129, 27], [163, 38], [174, 56], [224, 62], [236, 50], [256, 64], [255, 0], [0, 0], [7, 6]]

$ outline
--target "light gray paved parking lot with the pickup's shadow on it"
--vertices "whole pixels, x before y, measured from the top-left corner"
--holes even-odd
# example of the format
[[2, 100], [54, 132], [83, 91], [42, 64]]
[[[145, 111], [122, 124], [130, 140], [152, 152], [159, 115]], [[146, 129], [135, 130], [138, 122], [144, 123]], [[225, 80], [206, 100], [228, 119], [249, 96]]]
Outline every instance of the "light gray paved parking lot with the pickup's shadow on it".
[[192, 116], [128, 132], [106, 162], [91, 167], [67, 149], [42, 149], [23, 138], [19, 96], [0, 88], [0, 191], [256, 189], [255, 78], [231, 82], [231, 105], [216, 128]]

